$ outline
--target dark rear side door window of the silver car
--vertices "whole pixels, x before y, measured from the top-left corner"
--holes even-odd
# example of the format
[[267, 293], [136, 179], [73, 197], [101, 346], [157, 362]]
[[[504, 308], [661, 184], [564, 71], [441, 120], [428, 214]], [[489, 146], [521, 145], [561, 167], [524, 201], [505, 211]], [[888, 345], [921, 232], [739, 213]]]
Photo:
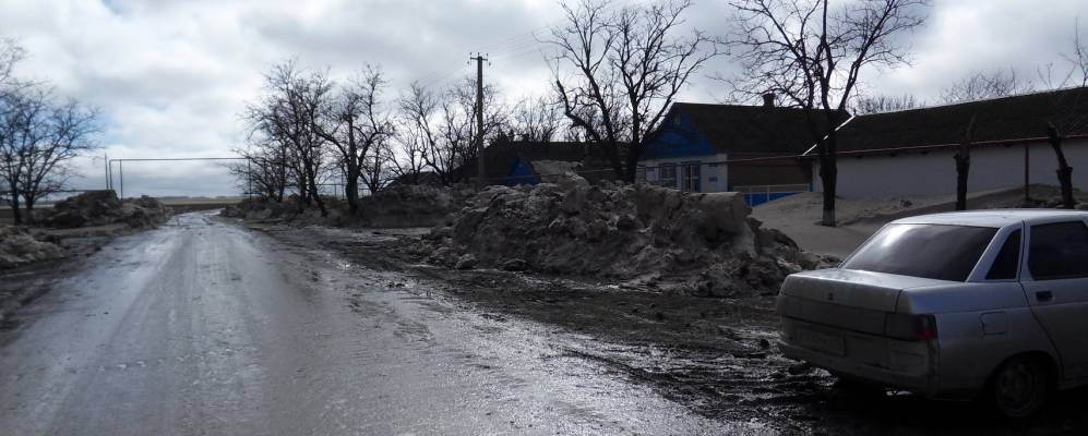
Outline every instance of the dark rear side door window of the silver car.
[[1032, 226], [1028, 270], [1036, 280], [1088, 277], [1088, 227], [1084, 221]]

